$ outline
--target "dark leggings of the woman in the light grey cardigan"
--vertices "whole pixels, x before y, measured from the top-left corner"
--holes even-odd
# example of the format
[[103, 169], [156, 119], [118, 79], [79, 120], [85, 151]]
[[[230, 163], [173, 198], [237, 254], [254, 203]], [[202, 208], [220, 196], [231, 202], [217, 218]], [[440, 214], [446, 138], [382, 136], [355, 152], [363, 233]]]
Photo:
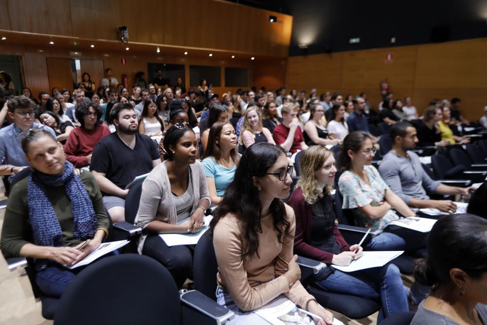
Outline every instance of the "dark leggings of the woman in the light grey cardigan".
[[147, 236], [142, 254], [152, 257], [171, 273], [178, 288], [181, 288], [193, 269], [191, 250], [184, 245], [168, 246], [159, 235]]

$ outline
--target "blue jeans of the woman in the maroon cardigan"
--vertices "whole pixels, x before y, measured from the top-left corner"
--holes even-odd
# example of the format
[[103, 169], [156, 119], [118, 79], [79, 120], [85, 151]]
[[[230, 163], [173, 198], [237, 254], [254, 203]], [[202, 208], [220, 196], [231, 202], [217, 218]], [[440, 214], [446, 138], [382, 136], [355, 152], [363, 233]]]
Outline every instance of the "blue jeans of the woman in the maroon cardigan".
[[326, 291], [380, 301], [377, 324], [393, 313], [409, 310], [409, 289], [402, 284], [399, 268], [393, 264], [349, 273], [335, 270], [316, 284]]

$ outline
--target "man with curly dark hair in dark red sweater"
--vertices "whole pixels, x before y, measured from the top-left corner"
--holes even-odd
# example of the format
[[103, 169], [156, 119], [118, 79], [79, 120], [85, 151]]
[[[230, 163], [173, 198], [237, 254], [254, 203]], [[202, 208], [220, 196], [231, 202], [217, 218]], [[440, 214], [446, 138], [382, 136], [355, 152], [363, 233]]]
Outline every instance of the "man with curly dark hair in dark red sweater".
[[110, 130], [103, 124], [97, 124], [103, 111], [95, 103], [82, 101], [76, 105], [75, 115], [81, 127], [71, 131], [64, 146], [66, 158], [76, 167], [91, 164], [93, 148]]

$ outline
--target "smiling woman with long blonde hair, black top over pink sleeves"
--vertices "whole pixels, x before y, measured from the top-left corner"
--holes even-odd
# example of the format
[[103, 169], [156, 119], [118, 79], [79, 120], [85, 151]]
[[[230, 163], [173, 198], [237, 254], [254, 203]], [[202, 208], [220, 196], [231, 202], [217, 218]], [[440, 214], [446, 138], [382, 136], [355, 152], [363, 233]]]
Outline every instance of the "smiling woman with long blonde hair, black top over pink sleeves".
[[240, 132], [239, 144], [248, 148], [256, 142], [276, 144], [270, 131], [262, 127], [259, 107], [251, 106], [247, 108], [244, 114], [244, 124]]

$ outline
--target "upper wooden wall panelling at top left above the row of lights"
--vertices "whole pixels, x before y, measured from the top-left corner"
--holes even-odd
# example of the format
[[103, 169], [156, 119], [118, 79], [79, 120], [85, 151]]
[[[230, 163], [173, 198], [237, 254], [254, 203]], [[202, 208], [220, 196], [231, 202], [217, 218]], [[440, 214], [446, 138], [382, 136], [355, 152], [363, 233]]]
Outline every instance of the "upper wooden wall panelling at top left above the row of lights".
[[[292, 17], [220, 0], [0, 0], [0, 29], [287, 57]], [[269, 15], [282, 23], [270, 23]]]

